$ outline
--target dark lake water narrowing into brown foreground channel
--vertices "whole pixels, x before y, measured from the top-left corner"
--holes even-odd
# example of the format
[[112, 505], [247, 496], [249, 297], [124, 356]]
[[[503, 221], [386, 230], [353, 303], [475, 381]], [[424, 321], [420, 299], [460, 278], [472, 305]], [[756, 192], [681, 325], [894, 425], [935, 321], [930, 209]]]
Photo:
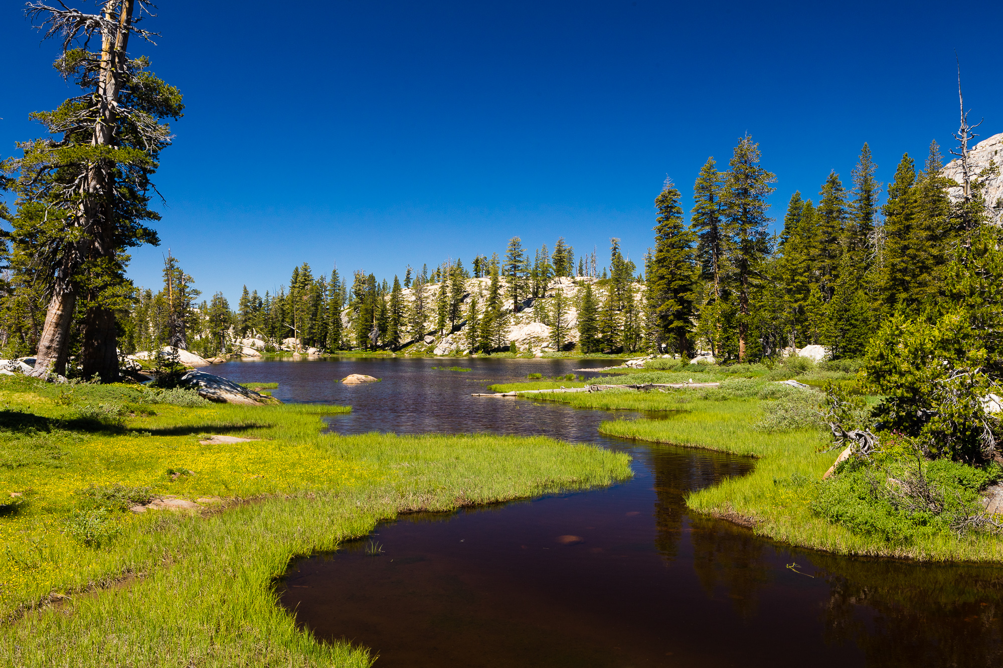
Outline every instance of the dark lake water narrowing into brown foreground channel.
[[[458, 364], [470, 372], [432, 370]], [[600, 366], [602, 362], [592, 362]], [[402, 516], [335, 554], [300, 560], [282, 603], [320, 638], [377, 666], [1003, 665], [1003, 569], [850, 559], [791, 549], [690, 514], [687, 491], [749, 459], [608, 438], [604, 419], [490, 382], [568, 373], [569, 360], [232, 362], [284, 401], [350, 404], [365, 431], [548, 434], [634, 457], [632, 480], [452, 514]], [[366, 373], [383, 379], [341, 385]], [[370, 541], [383, 553], [366, 553]], [[796, 566], [795, 566], [796, 565]]]

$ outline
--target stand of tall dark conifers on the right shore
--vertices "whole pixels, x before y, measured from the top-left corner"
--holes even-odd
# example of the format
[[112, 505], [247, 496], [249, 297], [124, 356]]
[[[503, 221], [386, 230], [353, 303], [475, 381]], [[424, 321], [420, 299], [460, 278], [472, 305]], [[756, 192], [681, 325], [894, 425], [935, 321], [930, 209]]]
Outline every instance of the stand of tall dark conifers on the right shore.
[[727, 170], [713, 157], [700, 170], [689, 225], [666, 183], [647, 264], [654, 347], [758, 360], [818, 344], [835, 359], [860, 356], [894, 314], [940, 298], [949, 256], [973, 227], [972, 207], [948, 197], [957, 184], [943, 166], [936, 141], [922, 169], [904, 154], [880, 205], [865, 143], [849, 188], [832, 172], [816, 199], [794, 193], [774, 235], [766, 200], [775, 177], [748, 136]]

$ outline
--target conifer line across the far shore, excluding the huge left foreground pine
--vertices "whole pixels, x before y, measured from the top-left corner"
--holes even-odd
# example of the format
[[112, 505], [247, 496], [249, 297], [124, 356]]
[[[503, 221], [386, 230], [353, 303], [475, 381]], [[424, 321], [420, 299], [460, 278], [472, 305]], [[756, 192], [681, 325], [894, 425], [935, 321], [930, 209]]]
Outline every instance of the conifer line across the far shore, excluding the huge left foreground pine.
[[[465, 350], [490, 353], [509, 350], [510, 327], [529, 317], [551, 328], [553, 349], [579, 353], [702, 349], [721, 361], [757, 360], [820, 344], [833, 358], [856, 357], [890, 317], [938, 299], [939, 272], [973, 225], [948, 198], [954, 184], [942, 162], [936, 143], [922, 170], [904, 155], [881, 204], [865, 144], [849, 188], [830, 173], [816, 199], [795, 193], [771, 235], [775, 178], [742, 137], [726, 170], [711, 157], [699, 171], [688, 221], [666, 182], [641, 273], [615, 238], [600, 267], [595, 249], [576, 257], [561, 238], [553, 250], [528, 251], [514, 237], [503, 254], [475, 256], [469, 270], [447, 259], [431, 270], [408, 266], [392, 282], [362, 270], [315, 276], [304, 263], [274, 294], [245, 286], [234, 308], [222, 293], [199, 302], [169, 251], [158, 292], [123, 282], [119, 347], [173, 345], [212, 357], [253, 338], [265, 351], [399, 350], [463, 328]], [[28, 352], [43, 296], [10, 290], [3, 313], [8, 348]]]

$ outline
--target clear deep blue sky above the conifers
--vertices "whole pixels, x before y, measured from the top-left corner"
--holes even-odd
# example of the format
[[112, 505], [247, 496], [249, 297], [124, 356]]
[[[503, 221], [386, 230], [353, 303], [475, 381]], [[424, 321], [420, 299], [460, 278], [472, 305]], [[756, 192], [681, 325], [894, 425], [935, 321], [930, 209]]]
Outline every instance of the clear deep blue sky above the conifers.
[[[93, 3], [67, 4], [93, 7]], [[869, 141], [888, 182], [904, 151], [947, 154], [966, 106], [1003, 131], [1003, 5], [972, 2], [159, 3], [130, 43], [178, 85], [156, 185], [160, 248], [129, 275], [157, 288], [169, 247], [210, 296], [273, 290], [337, 263], [392, 280], [564, 236], [640, 261], [666, 176], [685, 196], [708, 155], [759, 142], [772, 215], [849, 186]], [[0, 152], [37, 136], [27, 114], [73, 93], [19, 2], [0, 9]]]

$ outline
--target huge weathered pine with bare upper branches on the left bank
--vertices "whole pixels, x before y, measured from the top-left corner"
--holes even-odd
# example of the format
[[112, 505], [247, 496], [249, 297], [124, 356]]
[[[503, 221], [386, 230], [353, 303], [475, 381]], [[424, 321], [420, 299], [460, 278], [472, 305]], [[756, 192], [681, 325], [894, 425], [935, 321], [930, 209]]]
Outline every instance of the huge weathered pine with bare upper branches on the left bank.
[[[50, 295], [36, 375], [66, 373], [75, 332], [83, 375], [118, 379], [115, 312], [130, 306], [134, 292], [125, 251], [159, 243], [147, 227], [160, 218], [148, 207], [156, 192], [150, 180], [173, 138], [161, 121], [180, 118], [185, 107], [181, 92], [148, 70], [148, 58], [129, 57], [139, 46], [129, 38], [152, 34], [135, 27], [135, 5], [107, 0], [96, 15], [28, 5], [43, 38], [62, 40], [56, 69], [80, 88], [57, 109], [32, 114], [52, 136], [19, 142], [22, 156], [3, 165], [15, 178], [0, 180], [17, 195], [13, 254], [30, 259], [37, 286]], [[88, 50], [97, 45], [100, 51]]]

